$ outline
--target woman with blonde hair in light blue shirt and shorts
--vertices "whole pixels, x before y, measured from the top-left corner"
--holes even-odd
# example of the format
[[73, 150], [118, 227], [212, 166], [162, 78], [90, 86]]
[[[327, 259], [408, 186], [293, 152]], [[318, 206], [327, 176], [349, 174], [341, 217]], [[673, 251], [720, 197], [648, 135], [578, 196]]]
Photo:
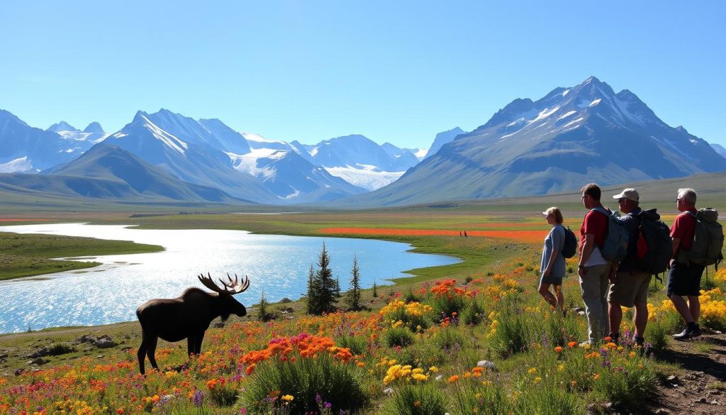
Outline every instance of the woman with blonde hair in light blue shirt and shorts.
[[[542, 212], [552, 230], [544, 238], [542, 247], [542, 264], [539, 265], [539, 294], [552, 306], [565, 313], [565, 296], [562, 294], [562, 278], [565, 276], [565, 257], [562, 250], [565, 246], [565, 228], [562, 226], [562, 212], [555, 206]], [[553, 286], [554, 294], [550, 291]]]

